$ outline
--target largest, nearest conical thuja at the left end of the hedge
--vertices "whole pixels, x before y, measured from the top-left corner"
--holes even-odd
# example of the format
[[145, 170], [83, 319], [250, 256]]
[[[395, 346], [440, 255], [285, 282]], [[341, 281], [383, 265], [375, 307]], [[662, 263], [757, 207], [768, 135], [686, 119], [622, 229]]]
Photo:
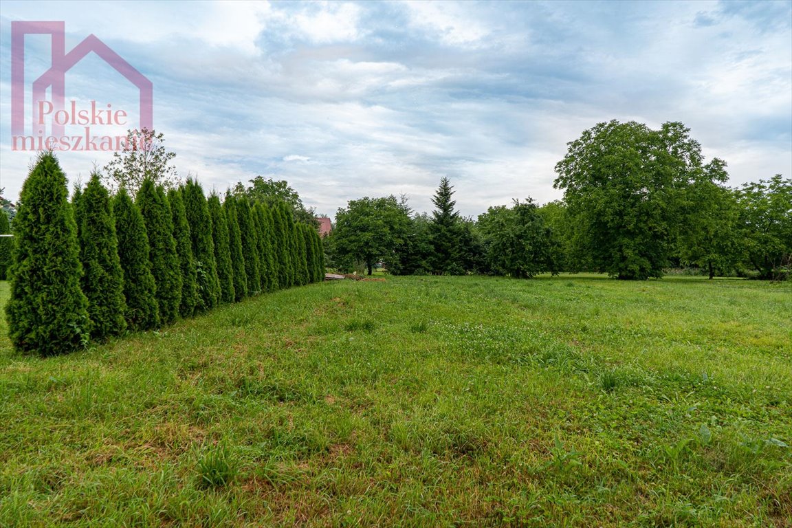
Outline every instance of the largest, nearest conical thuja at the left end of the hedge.
[[84, 347], [91, 322], [80, 289], [77, 226], [66, 175], [51, 152], [30, 171], [13, 218], [9, 337], [19, 351], [53, 355]]

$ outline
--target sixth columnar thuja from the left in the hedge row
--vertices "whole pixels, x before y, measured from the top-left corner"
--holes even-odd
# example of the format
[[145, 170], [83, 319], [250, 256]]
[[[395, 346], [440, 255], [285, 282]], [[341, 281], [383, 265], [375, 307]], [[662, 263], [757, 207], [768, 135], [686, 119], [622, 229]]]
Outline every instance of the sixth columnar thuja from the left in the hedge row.
[[215, 243], [211, 240], [209, 208], [204, 189], [196, 180], [188, 178], [181, 192], [185, 199], [187, 222], [190, 225], [192, 256], [195, 257], [198, 272], [198, 294], [203, 301], [201, 307], [203, 310], [209, 310], [217, 306], [220, 297], [220, 281], [217, 277]]

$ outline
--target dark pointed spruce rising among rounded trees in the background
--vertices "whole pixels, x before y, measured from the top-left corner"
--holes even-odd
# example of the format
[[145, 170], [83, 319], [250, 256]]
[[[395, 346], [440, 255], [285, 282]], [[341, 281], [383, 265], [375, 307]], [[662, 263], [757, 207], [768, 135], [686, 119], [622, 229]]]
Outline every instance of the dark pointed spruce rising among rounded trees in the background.
[[451, 182], [444, 177], [440, 180], [432, 203], [432, 222], [429, 223], [429, 240], [432, 243], [432, 255], [429, 264], [436, 274], [463, 275], [463, 228], [459, 213], [455, 210], [456, 202]]

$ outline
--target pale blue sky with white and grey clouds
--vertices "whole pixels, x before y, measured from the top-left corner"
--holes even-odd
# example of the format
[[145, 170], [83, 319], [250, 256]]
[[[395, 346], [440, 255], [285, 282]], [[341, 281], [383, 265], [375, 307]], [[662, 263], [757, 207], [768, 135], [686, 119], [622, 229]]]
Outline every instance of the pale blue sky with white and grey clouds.
[[[36, 20], [65, 21], [66, 51], [93, 33], [153, 82], [154, 128], [181, 175], [221, 192], [257, 175], [288, 180], [330, 216], [348, 199], [401, 193], [431, 211], [444, 176], [463, 215], [558, 199], [566, 143], [612, 119], [682, 121], [707, 159], [728, 162], [732, 185], [792, 173], [789, 1], [4, 0], [9, 199], [33, 158], [11, 149], [11, 21]], [[26, 37], [26, 89], [49, 61], [49, 37]], [[135, 124], [135, 89], [93, 54], [68, 72], [66, 92]], [[59, 153], [72, 182], [111, 157]]]

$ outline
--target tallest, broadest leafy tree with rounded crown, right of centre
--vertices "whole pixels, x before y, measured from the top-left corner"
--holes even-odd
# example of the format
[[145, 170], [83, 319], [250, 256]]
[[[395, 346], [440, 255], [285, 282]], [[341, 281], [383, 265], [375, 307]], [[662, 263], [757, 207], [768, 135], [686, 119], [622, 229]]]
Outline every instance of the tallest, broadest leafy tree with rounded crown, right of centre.
[[703, 165], [701, 146], [682, 123], [652, 130], [613, 120], [584, 131], [555, 166], [575, 251], [619, 279], [661, 277], [691, 182], [717, 179], [720, 166]]

